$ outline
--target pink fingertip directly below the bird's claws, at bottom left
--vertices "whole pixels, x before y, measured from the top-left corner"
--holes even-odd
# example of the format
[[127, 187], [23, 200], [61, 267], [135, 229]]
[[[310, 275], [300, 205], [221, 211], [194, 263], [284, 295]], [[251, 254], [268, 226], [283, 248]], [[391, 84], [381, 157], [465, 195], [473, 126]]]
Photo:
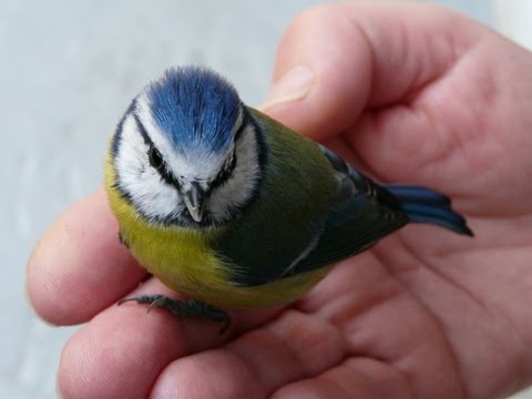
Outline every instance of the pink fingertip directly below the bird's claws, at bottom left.
[[[153, 280], [144, 289], [160, 289]], [[61, 355], [65, 398], [146, 398], [158, 374], [190, 350], [176, 318], [145, 306], [113, 306], [72, 336]]]

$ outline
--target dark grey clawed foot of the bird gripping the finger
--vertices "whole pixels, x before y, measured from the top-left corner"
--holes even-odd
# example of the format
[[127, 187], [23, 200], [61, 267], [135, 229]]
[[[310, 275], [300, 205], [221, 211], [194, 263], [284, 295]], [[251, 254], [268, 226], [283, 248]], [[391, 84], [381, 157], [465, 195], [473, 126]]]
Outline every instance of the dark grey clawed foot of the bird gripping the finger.
[[203, 317], [213, 321], [223, 323], [219, 334], [224, 334], [231, 325], [229, 315], [195, 299], [177, 300], [164, 295], [141, 295], [136, 297], [123, 298], [119, 301], [119, 306], [123, 303], [134, 300], [137, 304], [149, 304], [149, 311], [154, 307], [170, 310], [180, 318]]

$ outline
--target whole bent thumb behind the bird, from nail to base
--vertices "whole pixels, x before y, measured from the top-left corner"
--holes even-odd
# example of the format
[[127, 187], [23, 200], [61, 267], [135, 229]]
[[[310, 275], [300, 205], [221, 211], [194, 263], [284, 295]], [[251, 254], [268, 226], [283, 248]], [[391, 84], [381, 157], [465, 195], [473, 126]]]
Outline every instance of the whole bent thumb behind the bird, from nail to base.
[[[452, 66], [474, 31], [421, 4], [336, 3], [300, 14], [277, 53], [264, 109], [318, 140], [347, 129], [367, 106], [413, 93]], [[459, 39], [458, 39], [459, 38]]]

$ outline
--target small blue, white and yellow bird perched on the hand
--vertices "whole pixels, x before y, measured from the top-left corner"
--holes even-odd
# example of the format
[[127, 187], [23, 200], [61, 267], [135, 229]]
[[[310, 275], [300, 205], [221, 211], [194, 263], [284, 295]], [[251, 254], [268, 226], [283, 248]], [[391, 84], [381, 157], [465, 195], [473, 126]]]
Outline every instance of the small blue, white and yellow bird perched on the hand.
[[226, 324], [225, 310], [299, 298], [335, 263], [410, 222], [472, 235], [446, 196], [372, 182], [198, 66], [168, 70], [132, 101], [111, 139], [105, 187], [132, 255], [191, 298], [124, 300]]

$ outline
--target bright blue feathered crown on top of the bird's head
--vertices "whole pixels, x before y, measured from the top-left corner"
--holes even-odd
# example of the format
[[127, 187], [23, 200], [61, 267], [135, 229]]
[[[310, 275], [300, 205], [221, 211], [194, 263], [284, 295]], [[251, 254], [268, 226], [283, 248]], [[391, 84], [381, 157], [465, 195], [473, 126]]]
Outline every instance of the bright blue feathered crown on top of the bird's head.
[[223, 76], [206, 68], [170, 69], [146, 89], [153, 121], [177, 151], [223, 153], [242, 102]]

